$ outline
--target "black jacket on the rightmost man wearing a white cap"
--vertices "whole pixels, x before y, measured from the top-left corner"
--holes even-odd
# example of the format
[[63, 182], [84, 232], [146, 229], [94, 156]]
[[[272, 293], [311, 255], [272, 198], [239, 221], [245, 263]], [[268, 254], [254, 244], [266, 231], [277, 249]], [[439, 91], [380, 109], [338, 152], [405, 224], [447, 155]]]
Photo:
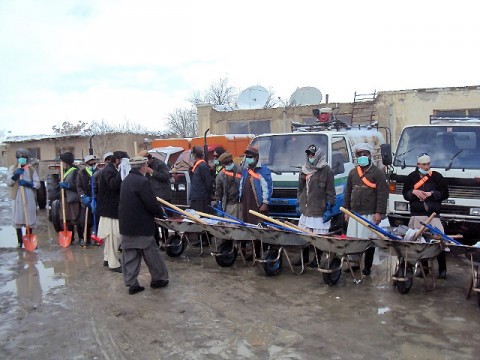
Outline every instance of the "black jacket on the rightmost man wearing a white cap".
[[425, 192], [431, 191], [432, 196], [425, 201], [420, 201], [412, 192], [415, 184], [423, 176], [418, 170], [408, 174], [407, 180], [405, 180], [403, 185], [403, 197], [410, 202], [410, 214], [412, 216], [430, 216], [433, 212], [436, 212], [438, 216], [442, 207], [442, 201], [449, 197], [447, 180], [445, 180], [442, 174], [432, 171], [432, 176], [418, 188], [418, 190]]

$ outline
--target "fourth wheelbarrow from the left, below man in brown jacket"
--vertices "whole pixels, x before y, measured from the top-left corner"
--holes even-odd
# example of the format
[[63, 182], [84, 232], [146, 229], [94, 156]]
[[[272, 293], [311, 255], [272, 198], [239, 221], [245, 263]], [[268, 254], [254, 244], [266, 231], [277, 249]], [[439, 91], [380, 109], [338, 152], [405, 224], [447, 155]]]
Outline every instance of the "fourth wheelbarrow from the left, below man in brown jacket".
[[[353, 237], [339, 238], [325, 235], [301, 235], [316, 249], [325, 254], [323, 262], [317, 259], [317, 270], [322, 273], [323, 281], [327, 285], [335, 285], [342, 274], [343, 264], [347, 263], [353, 282], [359, 284], [363, 279], [363, 261], [360, 261], [360, 279], [355, 277], [348, 255], [363, 256], [365, 250], [373, 246], [370, 239], [359, 239]], [[360, 259], [361, 260], [361, 259]]]

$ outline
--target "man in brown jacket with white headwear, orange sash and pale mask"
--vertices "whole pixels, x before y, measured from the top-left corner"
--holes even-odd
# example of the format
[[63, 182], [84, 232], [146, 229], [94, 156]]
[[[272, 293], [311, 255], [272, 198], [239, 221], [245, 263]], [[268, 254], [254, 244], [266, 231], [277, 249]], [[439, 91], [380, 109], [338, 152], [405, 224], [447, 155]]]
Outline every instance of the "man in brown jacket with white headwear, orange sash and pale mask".
[[[380, 224], [387, 213], [388, 185], [385, 173], [373, 164], [373, 147], [368, 143], [359, 143], [354, 147], [357, 166], [350, 171], [345, 189], [343, 207], [362, 217]], [[345, 215], [348, 221], [348, 215]], [[347, 236], [368, 239], [375, 235], [357, 221], [349, 221]], [[375, 247], [365, 251], [364, 275], [370, 275]]]

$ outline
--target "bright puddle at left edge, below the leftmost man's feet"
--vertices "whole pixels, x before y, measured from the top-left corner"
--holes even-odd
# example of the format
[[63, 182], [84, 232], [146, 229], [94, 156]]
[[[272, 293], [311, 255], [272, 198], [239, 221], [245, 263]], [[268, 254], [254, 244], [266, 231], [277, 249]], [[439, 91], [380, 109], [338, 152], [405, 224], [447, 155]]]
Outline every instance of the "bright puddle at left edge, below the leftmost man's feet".
[[18, 277], [0, 286], [0, 293], [16, 293], [20, 301], [40, 304], [42, 294], [57, 286], [65, 285], [65, 280], [55, 274], [53, 268], [46, 267], [38, 260], [37, 254], [21, 252], [23, 267], [18, 271]]

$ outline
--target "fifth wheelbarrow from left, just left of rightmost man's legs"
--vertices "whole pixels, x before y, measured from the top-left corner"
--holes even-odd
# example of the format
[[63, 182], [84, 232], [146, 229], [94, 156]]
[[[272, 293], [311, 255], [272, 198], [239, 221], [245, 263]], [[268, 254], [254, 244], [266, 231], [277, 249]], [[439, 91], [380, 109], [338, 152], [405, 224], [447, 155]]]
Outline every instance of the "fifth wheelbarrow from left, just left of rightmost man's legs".
[[[397, 287], [401, 294], [407, 294], [410, 291], [416, 271], [421, 271], [423, 274], [423, 280], [427, 290], [436, 288], [433, 259], [442, 251], [440, 241], [433, 240], [430, 243], [421, 243], [379, 238], [372, 239], [372, 241], [380, 249], [386, 250], [390, 256], [397, 256], [392, 280], [393, 285]], [[431, 286], [428, 284], [427, 274], [421, 265], [421, 260], [423, 259], [428, 262], [428, 269], [432, 277]]]

